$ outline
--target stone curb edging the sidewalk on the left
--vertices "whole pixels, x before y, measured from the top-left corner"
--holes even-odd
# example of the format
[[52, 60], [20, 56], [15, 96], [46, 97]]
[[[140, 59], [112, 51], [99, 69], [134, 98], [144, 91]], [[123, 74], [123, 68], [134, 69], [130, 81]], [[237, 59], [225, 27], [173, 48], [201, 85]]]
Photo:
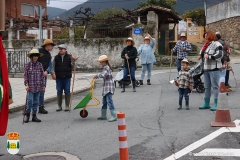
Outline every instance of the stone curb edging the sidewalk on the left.
[[[73, 94], [82, 93], [82, 92], [85, 92], [89, 89], [90, 89], [90, 87], [85, 87], [85, 88], [82, 88], [80, 90], [74, 91]], [[48, 102], [54, 101], [56, 99], [57, 99], [57, 96], [52, 96], [52, 97], [46, 98], [44, 100], [44, 103], [48, 103]], [[8, 113], [14, 113], [14, 112], [22, 111], [24, 106], [25, 106], [25, 104], [22, 104], [22, 105], [18, 105], [16, 107], [14, 107], [14, 108], [9, 108]]]

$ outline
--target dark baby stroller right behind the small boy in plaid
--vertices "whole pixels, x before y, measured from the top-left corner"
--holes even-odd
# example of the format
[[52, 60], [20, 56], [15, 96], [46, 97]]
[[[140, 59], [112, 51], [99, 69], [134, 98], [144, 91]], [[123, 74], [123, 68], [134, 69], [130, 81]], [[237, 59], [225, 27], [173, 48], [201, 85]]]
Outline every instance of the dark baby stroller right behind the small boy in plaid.
[[193, 76], [193, 88], [196, 89], [198, 93], [203, 93], [205, 88], [201, 79], [201, 75], [203, 74], [201, 62], [190, 68], [189, 72], [192, 73]]

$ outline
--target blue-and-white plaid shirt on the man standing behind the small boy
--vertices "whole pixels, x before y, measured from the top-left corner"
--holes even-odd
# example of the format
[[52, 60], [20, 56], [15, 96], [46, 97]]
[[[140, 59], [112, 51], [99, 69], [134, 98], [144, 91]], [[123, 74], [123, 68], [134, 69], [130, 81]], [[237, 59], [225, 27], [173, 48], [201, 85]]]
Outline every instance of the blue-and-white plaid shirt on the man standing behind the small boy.
[[[186, 48], [186, 50], [182, 50], [182, 48]], [[192, 46], [187, 41], [178, 41], [173, 48], [174, 52], [177, 52], [177, 59], [188, 58], [188, 52], [192, 51]]]

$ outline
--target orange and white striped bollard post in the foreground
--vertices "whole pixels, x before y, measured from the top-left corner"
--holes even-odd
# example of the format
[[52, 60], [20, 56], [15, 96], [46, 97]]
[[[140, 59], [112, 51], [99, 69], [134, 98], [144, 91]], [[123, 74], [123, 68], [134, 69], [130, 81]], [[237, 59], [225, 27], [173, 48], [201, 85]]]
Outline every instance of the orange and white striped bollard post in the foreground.
[[125, 113], [117, 113], [120, 160], [128, 160], [128, 145]]

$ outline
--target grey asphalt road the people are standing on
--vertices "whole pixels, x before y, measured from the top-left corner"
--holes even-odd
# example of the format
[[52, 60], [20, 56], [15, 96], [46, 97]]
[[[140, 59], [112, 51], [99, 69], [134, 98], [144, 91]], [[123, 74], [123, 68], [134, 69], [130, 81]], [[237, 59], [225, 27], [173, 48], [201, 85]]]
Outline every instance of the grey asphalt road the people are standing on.
[[[233, 65], [237, 80], [240, 79], [239, 65]], [[139, 75], [139, 73], [138, 73]], [[176, 72], [171, 78], [176, 77]], [[91, 75], [88, 75], [91, 76]], [[234, 80], [231, 76], [231, 85]], [[146, 82], [145, 82], [146, 83]], [[240, 84], [240, 81], [238, 81]], [[168, 83], [165, 70], [154, 71], [152, 85], [143, 85], [133, 93], [131, 87], [125, 93], [116, 89], [113, 97], [116, 109], [126, 113], [129, 155], [131, 160], [163, 160], [177, 153], [192, 143], [218, 131], [210, 122], [215, 112], [199, 110], [203, 94], [193, 92], [190, 97], [190, 110], [177, 110], [178, 92], [174, 85]], [[77, 94], [73, 105], [85, 95]], [[97, 82], [95, 96], [101, 99], [101, 80]], [[228, 96], [232, 120], [240, 119], [239, 89], [234, 89]], [[10, 115], [8, 132], [17, 131], [21, 134], [20, 155], [11, 156], [6, 150], [6, 137], [0, 137], [1, 160], [20, 159], [21, 155], [38, 152], [68, 152], [82, 160], [117, 160], [118, 132], [117, 123], [98, 121], [100, 106], [89, 107], [89, 116], [82, 119], [80, 110], [70, 113], [55, 112], [56, 102], [48, 103], [48, 115], [38, 115], [39, 124], [21, 124], [21, 113]], [[108, 112], [108, 117], [110, 114]], [[190, 154], [183, 155], [180, 160], [237, 160], [239, 157], [195, 157], [206, 148], [240, 148], [238, 132], [223, 133], [217, 138], [194, 149]]]

